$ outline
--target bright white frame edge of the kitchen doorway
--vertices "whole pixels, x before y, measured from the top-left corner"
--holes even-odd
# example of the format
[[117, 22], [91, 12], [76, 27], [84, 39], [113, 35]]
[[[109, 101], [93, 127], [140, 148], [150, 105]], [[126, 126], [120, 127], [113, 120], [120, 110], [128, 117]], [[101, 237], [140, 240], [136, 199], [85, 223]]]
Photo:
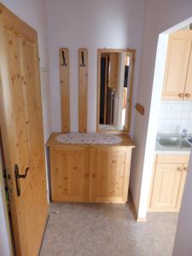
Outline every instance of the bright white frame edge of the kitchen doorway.
[[159, 115], [157, 113], [160, 112], [160, 101], [163, 90], [163, 81], [166, 68], [166, 53], [169, 35], [172, 32], [176, 32], [178, 30], [185, 28], [186, 26], [189, 26], [190, 23], [192, 23], [192, 18], [189, 18], [188, 20], [183, 20], [176, 26], [172, 26], [171, 28], [168, 28], [166, 31], [160, 32], [157, 41], [157, 50], [154, 64], [153, 90], [151, 96], [151, 105], [149, 108], [148, 130], [145, 144], [145, 155], [143, 160], [143, 177], [139, 195], [140, 202], [137, 207], [137, 221], [142, 221], [143, 219], [145, 221], [147, 220], [148, 197], [150, 192], [150, 181], [153, 175], [154, 164], [154, 158], [152, 158], [151, 155], [154, 155], [155, 152], [154, 149], [159, 118]]

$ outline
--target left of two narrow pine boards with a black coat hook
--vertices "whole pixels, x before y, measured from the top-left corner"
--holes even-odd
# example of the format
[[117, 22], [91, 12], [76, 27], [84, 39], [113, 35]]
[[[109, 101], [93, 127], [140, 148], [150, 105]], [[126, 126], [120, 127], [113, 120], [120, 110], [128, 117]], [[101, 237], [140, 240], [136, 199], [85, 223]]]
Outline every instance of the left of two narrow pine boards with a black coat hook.
[[60, 49], [61, 131], [70, 132], [69, 50]]

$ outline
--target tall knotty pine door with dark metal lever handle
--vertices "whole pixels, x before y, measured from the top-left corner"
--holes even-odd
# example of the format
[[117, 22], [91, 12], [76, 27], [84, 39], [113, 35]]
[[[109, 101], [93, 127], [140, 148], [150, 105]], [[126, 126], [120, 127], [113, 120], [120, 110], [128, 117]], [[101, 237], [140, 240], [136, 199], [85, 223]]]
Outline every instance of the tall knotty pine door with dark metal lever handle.
[[[38, 62], [37, 33], [1, 4], [1, 128], [15, 249], [21, 256], [38, 255], [48, 216]], [[15, 178], [16, 165], [20, 175], [28, 169], [26, 178]]]

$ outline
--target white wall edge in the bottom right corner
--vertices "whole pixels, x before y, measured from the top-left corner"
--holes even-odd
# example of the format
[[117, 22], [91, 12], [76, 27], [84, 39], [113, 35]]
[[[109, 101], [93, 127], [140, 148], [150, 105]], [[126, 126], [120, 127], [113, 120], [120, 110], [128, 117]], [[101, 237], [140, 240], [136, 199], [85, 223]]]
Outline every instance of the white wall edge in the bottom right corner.
[[177, 234], [173, 249], [173, 256], [192, 255], [192, 154], [190, 156], [188, 174], [183, 192], [182, 207], [178, 218]]

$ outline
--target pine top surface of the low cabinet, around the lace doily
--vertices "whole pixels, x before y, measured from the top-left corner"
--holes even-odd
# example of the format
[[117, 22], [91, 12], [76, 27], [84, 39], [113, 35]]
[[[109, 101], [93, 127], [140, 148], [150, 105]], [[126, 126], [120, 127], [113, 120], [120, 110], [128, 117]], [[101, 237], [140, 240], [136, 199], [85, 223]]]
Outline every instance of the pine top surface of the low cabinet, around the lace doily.
[[131, 137], [127, 134], [115, 134], [116, 136], [121, 137], [122, 142], [121, 143], [115, 143], [115, 144], [72, 144], [72, 143], [61, 143], [58, 142], [57, 140], [55, 140], [55, 137], [57, 137], [58, 135], [61, 135], [61, 132], [53, 132], [47, 143], [46, 146], [48, 147], [55, 147], [55, 146], [62, 146], [62, 147], [66, 147], [66, 146], [83, 146], [83, 147], [97, 147], [102, 146], [102, 147], [131, 147], [131, 148], [135, 148], [136, 144], [133, 142], [133, 140], [131, 139]]

